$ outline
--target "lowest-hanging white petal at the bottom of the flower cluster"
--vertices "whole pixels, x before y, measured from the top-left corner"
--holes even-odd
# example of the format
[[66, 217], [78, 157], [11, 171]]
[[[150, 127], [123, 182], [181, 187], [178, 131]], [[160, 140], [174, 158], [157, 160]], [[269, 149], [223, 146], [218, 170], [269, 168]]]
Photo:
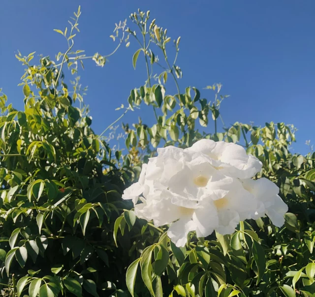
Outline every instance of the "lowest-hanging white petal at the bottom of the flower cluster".
[[195, 229], [195, 223], [189, 217], [186, 217], [172, 223], [167, 231], [167, 235], [177, 247], [184, 247], [187, 243], [188, 233]]

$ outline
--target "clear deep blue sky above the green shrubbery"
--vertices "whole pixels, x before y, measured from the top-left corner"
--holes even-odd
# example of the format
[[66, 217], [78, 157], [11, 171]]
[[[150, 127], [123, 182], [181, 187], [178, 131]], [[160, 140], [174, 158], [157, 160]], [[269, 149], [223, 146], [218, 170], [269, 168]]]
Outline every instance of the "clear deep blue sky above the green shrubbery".
[[[0, 87], [15, 108], [23, 108], [17, 86], [23, 67], [15, 53], [54, 56], [64, 51], [65, 40], [53, 29], [64, 29], [79, 4], [76, 48], [108, 54], [114, 48], [109, 38], [114, 23], [137, 8], [150, 9], [169, 36], [182, 37], [178, 60], [184, 72], [182, 90], [196, 86], [202, 97], [212, 99], [212, 93], [202, 88], [221, 82], [222, 94], [231, 95], [221, 110], [226, 123], [293, 123], [299, 129], [295, 152], [308, 151], [306, 140], [315, 144], [315, 0], [1, 1]], [[104, 68], [91, 61], [81, 72], [83, 85], [89, 86], [85, 101], [96, 133], [120, 115], [115, 108], [126, 104], [130, 90], [146, 78], [143, 68], [132, 68], [135, 49], [132, 42]], [[173, 85], [167, 91], [175, 93]], [[151, 123], [152, 114], [146, 111], [141, 116]], [[126, 114], [124, 121], [137, 121], [137, 114]]]

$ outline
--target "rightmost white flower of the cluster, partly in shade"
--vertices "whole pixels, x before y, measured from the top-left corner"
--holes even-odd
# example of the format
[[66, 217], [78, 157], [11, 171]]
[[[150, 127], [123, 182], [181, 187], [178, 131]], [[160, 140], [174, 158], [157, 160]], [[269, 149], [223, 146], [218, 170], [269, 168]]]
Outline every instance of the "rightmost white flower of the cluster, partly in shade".
[[258, 219], [266, 214], [274, 225], [281, 227], [288, 207], [278, 195], [279, 187], [266, 178], [246, 179], [242, 182], [244, 188], [255, 196], [258, 203], [257, 211], [252, 218]]

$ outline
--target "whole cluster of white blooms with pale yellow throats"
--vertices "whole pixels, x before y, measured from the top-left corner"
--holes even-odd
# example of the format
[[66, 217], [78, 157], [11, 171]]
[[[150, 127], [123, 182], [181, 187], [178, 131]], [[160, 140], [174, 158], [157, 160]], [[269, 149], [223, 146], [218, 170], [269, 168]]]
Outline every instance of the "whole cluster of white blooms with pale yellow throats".
[[132, 199], [138, 218], [156, 226], [171, 223], [167, 234], [178, 247], [185, 246], [190, 231], [197, 237], [214, 230], [231, 234], [240, 221], [265, 214], [280, 227], [287, 206], [274, 183], [252, 180], [261, 167], [233, 143], [202, 139], [186, 149], [158, 148], [123, 199]]

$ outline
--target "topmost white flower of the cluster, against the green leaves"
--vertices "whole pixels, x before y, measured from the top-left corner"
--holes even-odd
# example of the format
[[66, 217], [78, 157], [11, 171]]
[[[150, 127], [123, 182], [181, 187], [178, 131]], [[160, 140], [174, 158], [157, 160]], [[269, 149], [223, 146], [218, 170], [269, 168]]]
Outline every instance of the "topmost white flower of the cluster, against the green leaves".
[[213, 166], [231, 177], [249, 179], [262, 167], [262, 163], [256, 157], [248, 155], [244, 148], [233, 143], [201, 139], [187, 150], [208, 155]]

